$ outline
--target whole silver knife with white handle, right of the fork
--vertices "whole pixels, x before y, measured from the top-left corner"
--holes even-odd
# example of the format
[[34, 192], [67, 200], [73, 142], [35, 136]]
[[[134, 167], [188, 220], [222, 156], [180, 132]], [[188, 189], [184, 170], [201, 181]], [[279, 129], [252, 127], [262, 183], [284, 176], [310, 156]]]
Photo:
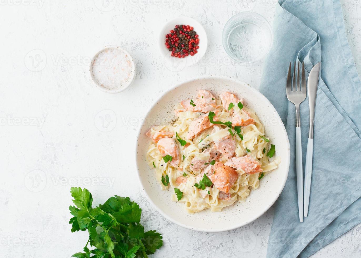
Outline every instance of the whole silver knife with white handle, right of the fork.
[[318, 86], [320, 70], [321, 70], [321, 62], [313, 66], [307, 81], [308, 102], [310, 105], [310, 130], [308, 134], [306, 166], [305, 166], [305, 189], [304, 189], [304, 202], [303, 202], [303, 215], [305, 217], [307, 217], [308, 214], [308, 203], [310, 200], [312, 154], [313, 154], [313, 122], [315, 116], [316, 95], [317, 95], [317, 86]]

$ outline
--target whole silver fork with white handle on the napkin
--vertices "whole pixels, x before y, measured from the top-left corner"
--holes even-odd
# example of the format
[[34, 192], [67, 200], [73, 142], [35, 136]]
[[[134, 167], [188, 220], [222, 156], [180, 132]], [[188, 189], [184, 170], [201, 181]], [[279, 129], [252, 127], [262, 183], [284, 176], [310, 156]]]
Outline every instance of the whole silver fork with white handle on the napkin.
[[[300, 104], [306, 99], [306, 76], [305, 66], [302, 63], [302, 78], [300, 83], [300, 62], [298, 62], [298, 71], [296, 74], [296, 62], [293, 69], [288, 69], [286, 94], [287, 99], [295, 104], [296, 107], [296, 177], [297, 177], [297, 197], [300, 222], [303, 222], [303, 170], [302, 170], [302, 146], [301, 146], [301, 127], [300, 127]], [[297, 83], [296, 83], [297, 78]]]

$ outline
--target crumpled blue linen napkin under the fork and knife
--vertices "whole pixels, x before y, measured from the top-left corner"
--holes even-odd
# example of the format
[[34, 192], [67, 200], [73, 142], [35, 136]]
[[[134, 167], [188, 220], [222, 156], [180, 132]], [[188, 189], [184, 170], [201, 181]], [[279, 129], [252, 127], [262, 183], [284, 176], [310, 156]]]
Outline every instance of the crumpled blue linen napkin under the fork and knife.
[[[286, 186], [275, 203], [267, 257], [309, 257], [361, 223], [361, 82], [345, 35], [339, 0], [279, 0], [274, 42], [260, 91], [282, 118], [291, 145]], [[322, 61], [314, 123], [308, 216], [299, 222], [295, 107], [286, 97], [290, 61], [304, 61], [306, 77]], [[303, 167], [309, 130], [308, 97], [301, 104]], [[277, 143], [276, 151], [277, 151]]]

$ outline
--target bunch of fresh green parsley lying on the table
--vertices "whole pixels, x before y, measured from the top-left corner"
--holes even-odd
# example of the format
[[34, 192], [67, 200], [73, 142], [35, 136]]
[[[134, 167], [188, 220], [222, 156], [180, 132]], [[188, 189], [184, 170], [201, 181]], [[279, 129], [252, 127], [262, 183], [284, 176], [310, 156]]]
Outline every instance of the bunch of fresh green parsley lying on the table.
[[[146, 258], [155, 253], [162, 244], [162, 236], [156, 231], [144, 232], [140, 224], [142, 209], [129, 197], [115, 195], [103, 205], [92, 208], [93, 198], [87, 189], [72, 187], [71, 196], [75, 206], [69, 210], [71, 232], [88, 231], [89, 239], [83, 253], [72, 257], [94, 258]], [[90, 250], [87, 246], [93, 250]]]

